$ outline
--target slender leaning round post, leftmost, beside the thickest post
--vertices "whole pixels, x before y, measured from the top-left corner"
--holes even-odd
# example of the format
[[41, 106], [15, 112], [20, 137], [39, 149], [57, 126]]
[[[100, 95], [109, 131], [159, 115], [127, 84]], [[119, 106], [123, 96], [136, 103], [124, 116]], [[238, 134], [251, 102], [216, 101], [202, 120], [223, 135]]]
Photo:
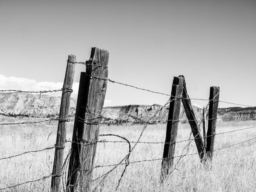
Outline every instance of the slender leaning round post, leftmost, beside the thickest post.
[[59, 122], [58, 122], [58, 131], [56, 138], [56, 148], [55, 156], [52, 169], [52, 182], [51, 182], [51, 191], [60, 192], [61, 191], [61, 175], [62, 175], [62, 165], [63, 165], [63, 156], [64, 156], [64, 147], [66, 140], [66, 127], [67, 127], [67, 118], [69, 115], [70, 108], [70, 98], [72, 93], [73, 78], [75, 73], [75, 62], [76, 55], [69, 55], [67, 60], [67, 69], [64, 79], [64, 84], [62, 88], [61, 96], [61, 107], [59, 113]]

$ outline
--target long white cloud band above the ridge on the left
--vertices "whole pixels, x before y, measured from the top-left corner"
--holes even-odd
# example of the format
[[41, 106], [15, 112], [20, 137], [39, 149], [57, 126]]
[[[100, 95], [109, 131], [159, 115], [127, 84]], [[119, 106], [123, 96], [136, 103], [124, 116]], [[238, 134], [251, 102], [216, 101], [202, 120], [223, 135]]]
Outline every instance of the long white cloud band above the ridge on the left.
[[[20, 77], [6, 77], [0, 75], [0, 90], [23, 90], [23, 91], [41, 91], [41, 90], [58, 90], [63, 87], [63, 82], [36, 82], [34, 79]], [[73, 84], [73, 93], [71, 96], [77, 98], [79, 83]], [[44, 93], [51, 96], [61, 96], [61, 91], [53, 93]]]

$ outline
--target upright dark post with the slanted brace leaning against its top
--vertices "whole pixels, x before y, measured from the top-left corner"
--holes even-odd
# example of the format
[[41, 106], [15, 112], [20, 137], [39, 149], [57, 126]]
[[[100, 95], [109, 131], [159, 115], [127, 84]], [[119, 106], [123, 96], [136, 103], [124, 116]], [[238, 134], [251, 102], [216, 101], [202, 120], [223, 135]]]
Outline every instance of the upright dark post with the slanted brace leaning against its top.
[[166, 127], [166, 140], [163, 149], [163, 161], [161, 168], [161, 180], [169, 175], [169, 169], [173, 166], [177, 128], [180, 116], [181, 96], [183, 91], [182, 77], [174, 77], [172, 84], [171, 102], [169, 107], [168, 122]]

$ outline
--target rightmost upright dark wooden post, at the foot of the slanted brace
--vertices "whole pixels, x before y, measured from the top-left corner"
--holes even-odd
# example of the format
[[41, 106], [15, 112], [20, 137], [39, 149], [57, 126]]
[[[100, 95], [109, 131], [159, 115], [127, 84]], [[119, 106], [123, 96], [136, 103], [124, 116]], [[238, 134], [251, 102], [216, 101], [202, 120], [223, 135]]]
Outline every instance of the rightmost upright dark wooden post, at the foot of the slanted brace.
[[220, 87], [210, 87], [209, 97], [209, 116], [208, 116], [208, 130], [207, 130], [207, 158], [212, 160], [214, 151], [214, 139], [218, 114], [218, 100], [219, 100]]

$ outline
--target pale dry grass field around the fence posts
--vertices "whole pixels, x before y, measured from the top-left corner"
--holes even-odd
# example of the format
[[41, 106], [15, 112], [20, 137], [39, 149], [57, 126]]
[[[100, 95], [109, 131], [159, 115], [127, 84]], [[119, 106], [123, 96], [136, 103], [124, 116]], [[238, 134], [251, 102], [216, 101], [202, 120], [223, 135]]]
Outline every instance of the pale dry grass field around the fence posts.
[[[23, 118], [21, 120], [26, 120]], [[40, 119], [37, 119], [40, 120]], [[255, 121], [218, 122], [216, 133], [255, 126]], [[143, 125], [102, 126], [101, 134], [118, 134], [130, 141], [136, 141]], [[1, 125], [0, 158], [9, 157], [24, 151], [38, 150], [54, 146], [57, 122], [44, 122], [31, 125]], [[71, 139], [73, 121], [68, 122], [67, 139]], [[148, 125], [141, 141], [164, 142], [166, 125]], [[190, 127], [180, 123], [177, 141], [189, 138]], [[239, 143], [256, 137], [255, 128], [221, 134], [215, 137], [215, 149]], [[100, 137], [100, 140], [119, 140], [116, 137]], [[188, 142], [177, 143], [175, 155], [186, 154], [183, 148]], [[256, 140], [242, 143], [214, 152], [212, 166], [203, 166], [198, 155], [175, 159], [172, 174], [160, 183], [161, 160], [131, 163], [122, 178], [117, 191], [122, 192], [244, 192], [255, 191], [256, 187]], [[131, 143], [134, 145], [134, 143]], [[66, 154], [70, 143], [66, 145]], [[127, 143], [98, 143], [95, 165], [118, 163], [128, 152]], [[188, 154], [196, 152], [195, 142], [190, 145]], [[139, 143], [131, 154], [130, 162], [161, 158], [163, 144]], [[52, 172], [54, 149], [24, 154], [11, 159], [0, 160], [0, 188], [35, 180]], [[124, 165], [118, 166], [99, 184], [93, 182], [96, 191], [115, 191]], [[97, 168], [93, 178], [104, 174], [111, 167]], [[48, 192], [50, 178], [27, 183], [4, 192]]]

